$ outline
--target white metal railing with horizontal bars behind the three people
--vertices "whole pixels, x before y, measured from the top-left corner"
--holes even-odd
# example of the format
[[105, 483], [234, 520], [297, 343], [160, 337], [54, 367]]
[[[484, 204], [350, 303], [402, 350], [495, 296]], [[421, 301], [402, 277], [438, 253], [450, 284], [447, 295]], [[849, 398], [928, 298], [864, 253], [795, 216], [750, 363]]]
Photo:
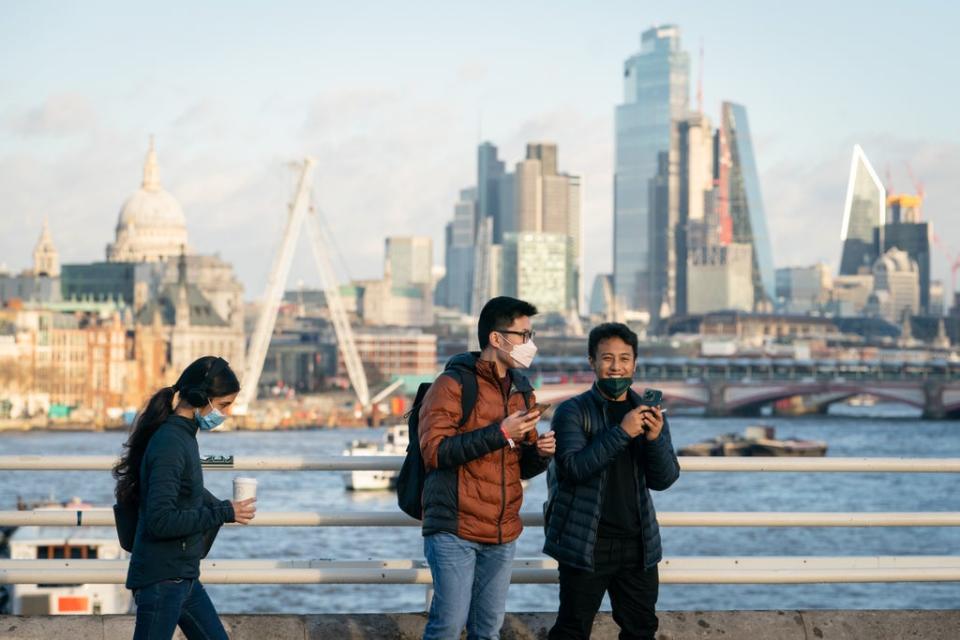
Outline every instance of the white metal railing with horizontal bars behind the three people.
[[[0, 456], [0, 470], [104, 471], [111, 456]], [[351, 471], [397, 470], [399, 456], [219, 457], [207, 460], [209, 470]], [[955, 458], [712, 458], [681, 457], [684, 471], [738, 472], [885, 472], [960, 473]], [[524, 524], [543, 524], [538, 512], [522, 514]], [[958, 527], [960, 512], [668, 512], [658, 521], [666, 527]], [[252, 526], [417, 526], [400, 512], [264, 512]], [[0, 511], [0, 526], [111, 526], [111, 509]], [[126, 560], [0, 560], [0, 584], [122, 583]], [[430, 572], [422, 560], [286, 561], [205, 560], [209, 583], [290, 584], [427, 584]], [[515, 583], [554, 583], [556, 562], [519, 559]], [[960, 556], [813, 556], [666, 558], [661, 581], [673, 584], [806, 584], [853, 582], [957, 582]]]

